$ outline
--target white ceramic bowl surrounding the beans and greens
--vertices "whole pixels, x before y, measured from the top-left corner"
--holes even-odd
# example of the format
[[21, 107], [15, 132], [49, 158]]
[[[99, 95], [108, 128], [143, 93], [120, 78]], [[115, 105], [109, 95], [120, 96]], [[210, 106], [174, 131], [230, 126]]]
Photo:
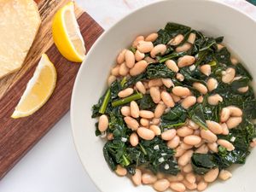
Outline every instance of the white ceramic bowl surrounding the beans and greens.
[[[72, 97], [71, 120], [73, 138], [79, 157], [98, 189], [104, 192], [154, 191], [149, 186], [134, 187], [127, 177], [117, 177], [108, 168], [102, 154], [103, 142], [95, 136], [95, 119], [91, 107], [106, 90], [106, 79], [116, 55], [139, 34], [156, 32], [168, 21], [192, 26], [207, 35], [224, 36], [236, 55], [242, 58], [256, 78], [255, 45], [256, 22], [237, 9], [223, 3], [206, 0], [168, 0], [150, 4], [119, 20], [102, 34], [90, 49], [80, 67]], [[255, 151], [245, 166], [233, 171], [224, 183], [216, 182], [206, 192], [253, 192], [256, 166]]]

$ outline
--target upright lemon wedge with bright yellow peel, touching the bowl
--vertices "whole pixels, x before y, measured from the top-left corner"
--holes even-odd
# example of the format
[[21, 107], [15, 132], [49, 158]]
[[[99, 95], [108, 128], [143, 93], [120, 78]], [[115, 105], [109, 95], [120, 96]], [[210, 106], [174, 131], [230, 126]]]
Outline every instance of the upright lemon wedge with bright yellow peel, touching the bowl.
[[56, 47], [68, 61], [82, 62], [86, 53], [84, 39], [74, 14], [74, 3], [59, 9], [52, 23], [52, 34]]

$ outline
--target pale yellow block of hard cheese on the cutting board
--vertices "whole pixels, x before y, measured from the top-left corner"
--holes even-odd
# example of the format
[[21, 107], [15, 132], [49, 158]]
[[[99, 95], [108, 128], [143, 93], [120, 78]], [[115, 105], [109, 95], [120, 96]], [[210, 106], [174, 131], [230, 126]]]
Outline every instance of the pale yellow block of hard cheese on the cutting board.
[[20, 69], [40, 23], [33, 0], [0, 0], [0, 79]]

